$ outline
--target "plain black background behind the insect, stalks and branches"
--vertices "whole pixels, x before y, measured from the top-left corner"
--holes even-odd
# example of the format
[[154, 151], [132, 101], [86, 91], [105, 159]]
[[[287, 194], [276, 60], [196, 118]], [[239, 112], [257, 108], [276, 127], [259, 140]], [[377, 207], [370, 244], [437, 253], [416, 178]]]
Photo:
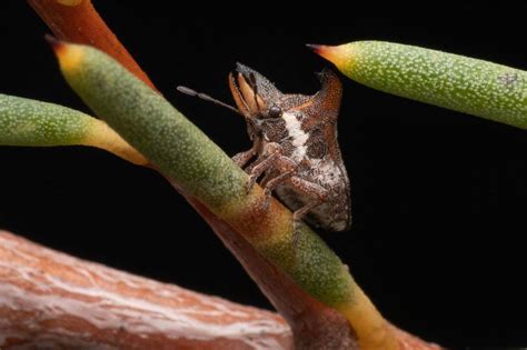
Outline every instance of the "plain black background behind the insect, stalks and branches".
[[[96, 6], [167, 99], [229, 154], [249, 148], [243, 120], [178, 96], [176, 86], [230, 102], [226, 77], [237, 61], [282, 91], [302, 93], [317, 90], [314, 72], [327, 66], [307, 42], [388, 40], [527, 69], [525, 4], [498, 11], [430, 2], [400, 11], [406, 17], [378, 18], [329, 4], [307, 9], [307, 16], [272, 7], [219, 16], [205, 3], [182, 12], [165, 1]], [[1, 93], [88, 111], [42, 40], [49, 30], [24, 1], [1, 2], [0, 30]], [[326, 241], [402, 329], [449, 347], [526, 346], [527, 133], [342, 81], [339, 140], [355, 222], [350, 232], [325, 234]], [[102, 151], [0, 148], [0, 228], [115, 268], [270, 308], [160, 176]]]

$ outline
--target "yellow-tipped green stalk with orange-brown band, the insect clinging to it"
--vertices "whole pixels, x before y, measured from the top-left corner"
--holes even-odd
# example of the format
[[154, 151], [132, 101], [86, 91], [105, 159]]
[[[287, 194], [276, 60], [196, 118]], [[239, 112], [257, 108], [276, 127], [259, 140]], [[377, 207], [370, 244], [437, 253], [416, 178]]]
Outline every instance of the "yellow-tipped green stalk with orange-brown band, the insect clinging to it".
[[275, 200], [262, 210], [261, 188], [246, 193], [247, 174], [168, 101], [93, 48], [53, 47], [73, 90], [187, 196], [229, 222], [308, 293], [342, 312], [364, 349], [397, 348], [339, 258], [307, 226], [294, 247], [291, 212]]

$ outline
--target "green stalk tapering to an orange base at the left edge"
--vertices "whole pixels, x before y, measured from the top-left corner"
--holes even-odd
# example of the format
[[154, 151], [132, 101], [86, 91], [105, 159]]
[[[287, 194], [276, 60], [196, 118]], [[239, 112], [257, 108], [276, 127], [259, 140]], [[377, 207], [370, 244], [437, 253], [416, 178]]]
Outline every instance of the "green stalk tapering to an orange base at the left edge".
[[148, 163], [103, 121], [62, 106], [0, 93], [0, 144], [91, 146]]

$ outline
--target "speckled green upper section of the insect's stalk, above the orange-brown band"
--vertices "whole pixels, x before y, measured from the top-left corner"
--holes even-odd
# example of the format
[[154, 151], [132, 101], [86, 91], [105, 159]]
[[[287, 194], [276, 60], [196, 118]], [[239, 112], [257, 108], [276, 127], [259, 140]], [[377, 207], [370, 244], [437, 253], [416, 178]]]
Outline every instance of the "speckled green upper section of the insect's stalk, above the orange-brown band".
[[157, 91], [103, 52], [70, 48], [82, 50], [82, 62], [63, 71], [73, 90], [187, 194], [215, 210], [246, 197], [247, 174]]

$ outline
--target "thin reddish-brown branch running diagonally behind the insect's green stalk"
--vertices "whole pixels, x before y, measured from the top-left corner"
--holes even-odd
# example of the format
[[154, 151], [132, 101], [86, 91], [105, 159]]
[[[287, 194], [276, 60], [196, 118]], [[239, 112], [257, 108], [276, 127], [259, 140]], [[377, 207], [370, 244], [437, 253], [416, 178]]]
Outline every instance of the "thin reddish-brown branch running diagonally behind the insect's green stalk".
[[[54, 0], [28, 0], [28, 2], [60, 39], [91, 44], [103, 50], [156, 89], [98, 16], [90, 0], [83, 0], [78, 7], [60, 6]], [[209, 223], [257, 282], [260, 290], [284, 316], [292, 329], [297, 348], [357, 349], [355, 333], [340, 313], [307, 294], [260, 256], [239, 232], [218, 219], [199, 201], [185, 196], [176, 184], [173, 186]], [[437, 346], [422, 342], [396, 328], [392, 329], [398, 336], [401, 349], [439, 349]]]

